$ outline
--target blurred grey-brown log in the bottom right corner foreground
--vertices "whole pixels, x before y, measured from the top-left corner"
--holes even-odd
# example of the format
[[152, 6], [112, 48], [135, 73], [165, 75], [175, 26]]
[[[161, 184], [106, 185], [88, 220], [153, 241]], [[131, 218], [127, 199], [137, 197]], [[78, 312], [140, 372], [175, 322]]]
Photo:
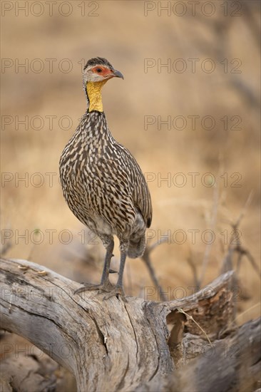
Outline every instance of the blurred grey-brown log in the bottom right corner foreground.
[[[190, 334], [188, 334], [190, 335]], [[249, 321], [213, 346], [202, 344], [197, 336], [185, 336], [197, 358], [166, 376], [150, 381], [136, 392], [260, 392], [260, 319]]]

